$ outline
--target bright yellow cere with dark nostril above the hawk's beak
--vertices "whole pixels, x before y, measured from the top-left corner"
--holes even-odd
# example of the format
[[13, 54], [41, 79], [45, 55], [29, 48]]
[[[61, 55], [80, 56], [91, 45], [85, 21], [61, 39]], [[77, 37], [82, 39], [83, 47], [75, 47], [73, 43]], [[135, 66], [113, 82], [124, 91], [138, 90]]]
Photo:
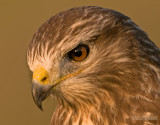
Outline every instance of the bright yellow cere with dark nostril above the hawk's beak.
[[34, 70], [33, 80], [38, 81], [42, 85], [51, 84], [49, 80], [48, 72], [41, 66], [37, 66], [37, 68]]

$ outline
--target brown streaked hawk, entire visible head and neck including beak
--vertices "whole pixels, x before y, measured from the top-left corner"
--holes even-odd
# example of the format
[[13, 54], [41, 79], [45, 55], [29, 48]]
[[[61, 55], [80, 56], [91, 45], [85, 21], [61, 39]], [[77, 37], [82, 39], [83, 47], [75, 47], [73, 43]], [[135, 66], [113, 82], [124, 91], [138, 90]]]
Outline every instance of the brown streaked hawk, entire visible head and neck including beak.
[[160, 50], [131, 19], [78, 7], [47, 20], [27, 52], [32, 95], [52, 125], [160, 124]]

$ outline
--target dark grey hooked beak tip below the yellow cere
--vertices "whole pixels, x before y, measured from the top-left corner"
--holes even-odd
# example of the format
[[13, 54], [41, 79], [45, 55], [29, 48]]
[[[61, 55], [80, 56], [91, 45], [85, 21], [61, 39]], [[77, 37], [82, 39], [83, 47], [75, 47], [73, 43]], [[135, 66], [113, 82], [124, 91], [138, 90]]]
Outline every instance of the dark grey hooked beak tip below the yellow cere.
[[51, 89], [53, 85], [42, 85], [36, 81], [32, 83], [32, 97], [35, 104], [43, 110], [42, 108], [42, 101], [45, 100], [51, 93]]

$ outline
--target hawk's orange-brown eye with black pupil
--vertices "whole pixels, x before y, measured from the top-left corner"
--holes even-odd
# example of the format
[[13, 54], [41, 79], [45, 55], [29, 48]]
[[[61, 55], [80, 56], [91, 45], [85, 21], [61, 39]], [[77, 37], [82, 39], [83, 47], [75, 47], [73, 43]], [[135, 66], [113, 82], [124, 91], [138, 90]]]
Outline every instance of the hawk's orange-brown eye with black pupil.
[[89, 47], [87, 45], [79, 45], [75, 49], [69, 52], [69, 57], [74, 61], [83, 61], [89, 53]]

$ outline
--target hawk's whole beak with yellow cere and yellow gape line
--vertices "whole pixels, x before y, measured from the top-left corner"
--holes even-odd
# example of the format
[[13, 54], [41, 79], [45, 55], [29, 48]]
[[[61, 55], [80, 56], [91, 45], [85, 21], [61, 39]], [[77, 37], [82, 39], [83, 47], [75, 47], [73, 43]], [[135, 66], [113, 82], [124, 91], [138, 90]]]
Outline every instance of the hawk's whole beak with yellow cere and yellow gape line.
[[57, 86], [61, 81], [79, 74], [82, 70], [58, 78], [56, 81], [51, 82], [48, 72], [41, 66], [37, 66], [33, 73], [32, 83], [32, 97], [38, 108], [42, 109], [42, 101], [44, 101], [50, 94], [52, 89]]

